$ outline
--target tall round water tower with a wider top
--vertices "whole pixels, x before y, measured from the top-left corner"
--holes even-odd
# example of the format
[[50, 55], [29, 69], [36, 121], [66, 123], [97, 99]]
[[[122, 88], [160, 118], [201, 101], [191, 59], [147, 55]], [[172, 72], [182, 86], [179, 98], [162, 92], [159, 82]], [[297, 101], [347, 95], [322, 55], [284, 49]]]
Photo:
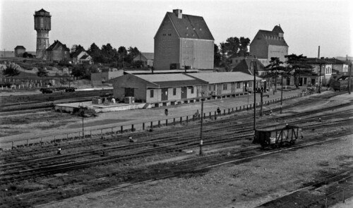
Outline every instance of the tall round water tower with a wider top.
[[49, 47], [49, 31], [51, 30], [50, 13], [41, 9], [35, 12], [35, 30], [37, 30], [36, 57], [45, 59], [45, 49]]

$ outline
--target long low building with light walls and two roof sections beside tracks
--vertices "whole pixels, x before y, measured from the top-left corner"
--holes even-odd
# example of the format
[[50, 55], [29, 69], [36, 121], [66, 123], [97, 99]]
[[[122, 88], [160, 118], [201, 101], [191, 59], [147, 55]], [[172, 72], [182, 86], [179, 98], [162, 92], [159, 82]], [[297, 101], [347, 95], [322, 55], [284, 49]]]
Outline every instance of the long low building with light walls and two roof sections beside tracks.
[[[262, 79], [256, 80], [260, 86]], [[134, 97], [151, 107], [236, 97], [253, 86], [253, 76], [241, 72], [126, 74], [112, 81], [116, 99]]]

